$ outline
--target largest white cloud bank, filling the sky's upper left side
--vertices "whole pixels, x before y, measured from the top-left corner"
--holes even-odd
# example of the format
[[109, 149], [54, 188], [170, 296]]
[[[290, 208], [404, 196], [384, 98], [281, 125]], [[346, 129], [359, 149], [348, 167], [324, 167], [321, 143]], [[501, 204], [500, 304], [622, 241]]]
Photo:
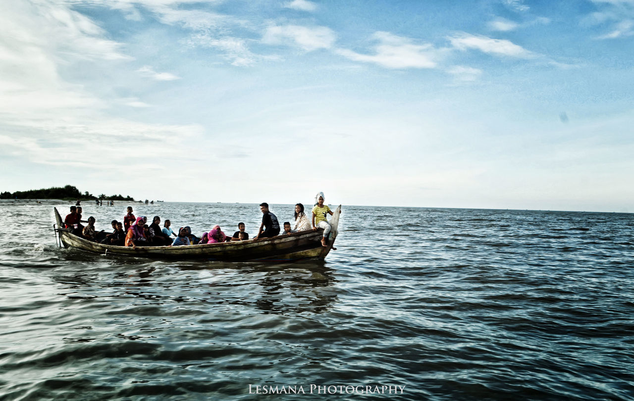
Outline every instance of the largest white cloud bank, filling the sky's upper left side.
[[[131, 156], [139, 148], [157, 158], [191, 155], [183, 138], [202, 136], [200, 126], [111, 117], [112, 106], [149, 105], [137, 98], [100, 98], [60, 73], [79, 62], [86, 69], [116, 70], [131, 59], [92, 20], [65, 3], [18, 1], [0, 13], [0, 25], [0, 155], [88, 170], [102, 169], [94, 162], [102, 155], [115, 169], [134, 165]], [[175, 77], [152, 67], [139, 72], [153, 79]], [[140, 160], [138, 165], [144, 169]]]

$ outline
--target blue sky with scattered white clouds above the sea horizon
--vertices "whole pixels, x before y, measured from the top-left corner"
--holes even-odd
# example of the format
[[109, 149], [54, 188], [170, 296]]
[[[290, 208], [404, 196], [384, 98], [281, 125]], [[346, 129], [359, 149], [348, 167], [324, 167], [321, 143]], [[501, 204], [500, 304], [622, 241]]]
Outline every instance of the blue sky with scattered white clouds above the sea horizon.
[[634, 0], [0, 3], [0, 191], [634, 212]]

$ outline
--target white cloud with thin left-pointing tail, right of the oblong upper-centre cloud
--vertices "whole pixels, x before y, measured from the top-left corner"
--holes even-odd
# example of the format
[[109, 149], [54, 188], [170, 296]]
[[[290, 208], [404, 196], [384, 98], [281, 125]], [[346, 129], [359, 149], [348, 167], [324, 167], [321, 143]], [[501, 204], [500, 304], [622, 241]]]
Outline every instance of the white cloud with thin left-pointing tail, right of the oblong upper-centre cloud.
[[349, 49], [337, 49], [337, 54], [353, 61], [374, 63], [385, 68], [434, 68], [441, 51], [431, 44], [414, 44], [413, 39], [376, 32], [373, 39], [379, 43], [375, 54], [361, 54]]

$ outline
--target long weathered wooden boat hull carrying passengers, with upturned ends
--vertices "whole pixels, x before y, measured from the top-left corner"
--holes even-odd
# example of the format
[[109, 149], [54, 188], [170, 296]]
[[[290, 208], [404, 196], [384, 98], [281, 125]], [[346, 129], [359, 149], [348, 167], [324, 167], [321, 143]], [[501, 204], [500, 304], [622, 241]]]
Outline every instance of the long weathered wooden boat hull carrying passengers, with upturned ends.
[[328, 246], [321, 246], [323, 229], [318, 229], [317, 231], [293, 232], [292, 234], [258, 239], [256, 241], [249, 239], [247, 241], [189, 246], [137, 246], [136, 250], [131, 246], [105, 245], [76, 236], [69, 229], [62, 228], [63, 222], [60, 213], [57, 208], [53, 208], [53, 210], [55, 211], [55, 220], [57, 222], [55, 232], [59, 238], [60, 245], [65, 248], [72, 247], [102, 255], [239, 262], [245, 260], [291, 261], [310, 258], [323, 260], [332, 250], [335, 238], [337, 238], [341, 205], [335, 210], [335, 214], [330, 220], [332, 230], [328, 237]]

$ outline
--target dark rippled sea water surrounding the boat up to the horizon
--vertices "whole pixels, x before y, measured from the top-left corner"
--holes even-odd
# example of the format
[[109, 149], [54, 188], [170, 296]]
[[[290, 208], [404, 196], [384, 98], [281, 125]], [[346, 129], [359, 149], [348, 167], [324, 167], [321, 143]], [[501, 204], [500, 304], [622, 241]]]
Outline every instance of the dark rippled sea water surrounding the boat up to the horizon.
[[[107, 230], [128, 205], [198, 236], [262, 217], [82, 203]], [[337, 251], [275, 264], [58, 248], [71, 204], [0, 203], [2, 401], [634, 400], [632, 213], [343, 205]]]

